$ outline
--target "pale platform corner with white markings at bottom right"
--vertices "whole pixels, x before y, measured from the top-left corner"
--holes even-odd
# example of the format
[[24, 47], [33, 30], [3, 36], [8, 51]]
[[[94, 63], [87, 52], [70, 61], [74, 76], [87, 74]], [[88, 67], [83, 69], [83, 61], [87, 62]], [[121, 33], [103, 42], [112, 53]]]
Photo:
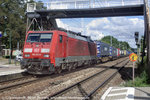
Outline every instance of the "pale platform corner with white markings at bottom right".
[[100, 100], [150, 100], [150, 87], [109, 87]]

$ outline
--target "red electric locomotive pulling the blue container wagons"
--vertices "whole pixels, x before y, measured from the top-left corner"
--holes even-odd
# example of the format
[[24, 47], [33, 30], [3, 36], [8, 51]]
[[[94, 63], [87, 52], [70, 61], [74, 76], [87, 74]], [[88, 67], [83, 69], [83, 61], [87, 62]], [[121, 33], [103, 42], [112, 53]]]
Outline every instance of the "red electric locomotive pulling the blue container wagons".
[[94, 62], [96, 44], [90, 37], [62, 29], [29, 31], [21, 68], [32, 74], [50, 74]]

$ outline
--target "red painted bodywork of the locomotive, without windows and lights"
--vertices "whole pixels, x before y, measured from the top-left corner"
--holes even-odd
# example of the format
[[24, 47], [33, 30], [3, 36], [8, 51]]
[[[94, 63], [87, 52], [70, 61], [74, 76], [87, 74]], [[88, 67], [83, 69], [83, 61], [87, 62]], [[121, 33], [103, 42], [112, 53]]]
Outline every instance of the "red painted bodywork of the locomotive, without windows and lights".
[[[29, 33], [53, 33], [51, 42], [47, 43], [27, 43], [25, 41], [25, 48], [32, 48], [31, 53], [23, 52], [23, 58], [25, 59], [50, 59], [50, 63], [55, 66], [55, 58], [65, 58], [68, 56], [96, 56], [96, 44], [93, 42], [87, 42], [67, 36], [66, 32], [53, 30], [53, 31], [29, 31]], [[26, 40], [27, 36], [26, 35]], [[63, 41], [60, 43], [59, 35], [63, 36]], [[49, 53], [41, 53], [42, 48], [49, 48]], [[24, 50], [23, 50], [24, 51]], [[30, 57], [25, 57], [25, 54], [29, 54]], [[44, 54], [48, 54], [49, 57], [43, 57]]]

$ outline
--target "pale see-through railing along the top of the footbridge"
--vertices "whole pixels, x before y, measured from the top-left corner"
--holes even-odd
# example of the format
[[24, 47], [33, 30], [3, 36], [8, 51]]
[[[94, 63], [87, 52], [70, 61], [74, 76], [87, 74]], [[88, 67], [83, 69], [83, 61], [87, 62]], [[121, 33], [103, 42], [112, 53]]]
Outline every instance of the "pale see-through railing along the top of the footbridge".
[[143, 0], [49, 0], [49, 2], [29, 3], [27, 12], [41, 9], [86, 9], [138, 4], [143, 4]]

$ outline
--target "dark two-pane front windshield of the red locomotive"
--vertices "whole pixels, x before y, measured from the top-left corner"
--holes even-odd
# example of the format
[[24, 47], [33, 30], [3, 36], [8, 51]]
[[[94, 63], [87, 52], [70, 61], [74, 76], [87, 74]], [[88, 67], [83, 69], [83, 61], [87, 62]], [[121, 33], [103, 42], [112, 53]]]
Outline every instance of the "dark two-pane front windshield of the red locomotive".
[[29, 33], [27, 42], [50, 42], [52, 33]]

